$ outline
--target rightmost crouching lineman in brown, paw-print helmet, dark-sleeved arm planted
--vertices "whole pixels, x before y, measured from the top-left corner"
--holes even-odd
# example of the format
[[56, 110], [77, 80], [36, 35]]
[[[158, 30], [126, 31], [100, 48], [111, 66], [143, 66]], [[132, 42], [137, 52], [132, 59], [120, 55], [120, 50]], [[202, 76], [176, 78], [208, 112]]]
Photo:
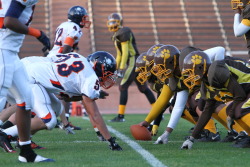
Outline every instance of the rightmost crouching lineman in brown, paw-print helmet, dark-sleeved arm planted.
[[[224, 60], [212, 62], [202, 51], [191, 52], [185, 57], [182, 72], [185, 76], [184, 83], [189, 89], [201, 86], [201, 95], [206, 103], [197, 126], [182, 144], [182, 149], [192, 148], [194, 139], [211, 117], [218, 100], [233, 100], [226, 108], [228, 129], [233, 130], [235, 120], [247, 133], [250, 132], [249, 73], [247, 61], [238, 58], [226, 57]], [[244, 144], [249, 146], [249, 142]]]

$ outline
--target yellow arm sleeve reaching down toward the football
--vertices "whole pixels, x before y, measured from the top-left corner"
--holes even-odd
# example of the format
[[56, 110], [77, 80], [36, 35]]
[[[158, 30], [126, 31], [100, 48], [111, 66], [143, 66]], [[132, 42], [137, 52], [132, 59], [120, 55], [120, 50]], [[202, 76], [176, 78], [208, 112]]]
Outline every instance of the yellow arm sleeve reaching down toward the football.
[[173, 96], [173, 92], [168, 85], [163, 85], [160, 96], [157, 98], [152, 109], [147, 115], [145, 121], [152, 122], [162, 112], [162, 109], [168, 105], [170, 98]]

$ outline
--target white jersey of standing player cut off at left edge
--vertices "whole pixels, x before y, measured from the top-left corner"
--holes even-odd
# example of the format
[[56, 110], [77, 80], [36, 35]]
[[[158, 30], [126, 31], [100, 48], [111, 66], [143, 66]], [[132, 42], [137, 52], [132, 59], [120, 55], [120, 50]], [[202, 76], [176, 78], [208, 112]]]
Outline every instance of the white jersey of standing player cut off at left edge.
[[[21, 3], [25, 8], [23, 9], [18, 20], [25, 25], [29, 25], [32, 20], [34, 6], [38, 0], [14, 0]], [[24, 34], [19, 34], [4, 27], [4, 17], [8, 11], [11, 0], [1, 0], [0, 3], [0, 49], [8, 49], [11, 51], [19, 52], [22, 46]], [[10, 8], [9, 10], [15, 11], [16, 9]]]

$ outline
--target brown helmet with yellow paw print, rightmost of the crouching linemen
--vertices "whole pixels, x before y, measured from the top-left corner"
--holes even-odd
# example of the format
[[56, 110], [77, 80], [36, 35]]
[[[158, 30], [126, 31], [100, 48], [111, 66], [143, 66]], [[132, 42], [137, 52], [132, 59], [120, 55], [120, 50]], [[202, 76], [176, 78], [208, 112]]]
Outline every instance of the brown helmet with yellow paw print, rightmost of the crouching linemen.
[[200, 86], [201, 79], [207, 74], [211, 60], [203, 51], [193, 51], [189, 53], [183, 61], [182, 76], [184, 84], [193, 89]]

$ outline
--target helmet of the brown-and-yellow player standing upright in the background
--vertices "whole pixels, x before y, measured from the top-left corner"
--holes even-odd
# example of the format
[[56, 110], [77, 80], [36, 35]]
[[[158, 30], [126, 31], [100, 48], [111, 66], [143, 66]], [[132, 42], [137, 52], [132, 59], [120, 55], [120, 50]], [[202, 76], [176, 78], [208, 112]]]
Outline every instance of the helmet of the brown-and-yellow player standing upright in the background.
[[122, 16], [118, 13], [112, 13], [108, 16], [107, 27], [110, 32], [116, 32], [122, 27]]

